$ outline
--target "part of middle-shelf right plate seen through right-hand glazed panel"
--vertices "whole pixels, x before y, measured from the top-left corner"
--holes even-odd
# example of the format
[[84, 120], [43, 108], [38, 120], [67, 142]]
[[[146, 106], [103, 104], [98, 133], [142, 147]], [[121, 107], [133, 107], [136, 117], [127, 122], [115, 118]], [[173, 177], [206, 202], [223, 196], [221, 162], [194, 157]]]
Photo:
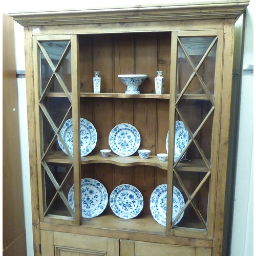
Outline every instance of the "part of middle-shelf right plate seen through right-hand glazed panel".
[[[174, 161], [176, 162], [180, 154], [183, 152], [185, 146], [189, 141], [189, 134], [182, 121], [175, 122], [175, 147], [174, 147]], [[185, 154], [181, 158], [183, 160]]]

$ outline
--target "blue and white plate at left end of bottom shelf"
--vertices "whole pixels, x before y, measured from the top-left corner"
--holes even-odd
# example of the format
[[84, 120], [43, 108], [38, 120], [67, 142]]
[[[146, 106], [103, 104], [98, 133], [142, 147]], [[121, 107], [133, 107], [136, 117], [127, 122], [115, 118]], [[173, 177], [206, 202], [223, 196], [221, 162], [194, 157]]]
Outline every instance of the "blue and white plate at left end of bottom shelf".
[[[97, 180], [81, 180], [82, 218], [94, 218], [100, 215], [108, 204], [108, 192]], [[69, 190], [69, 204], [75, 210], [74, 185]]]

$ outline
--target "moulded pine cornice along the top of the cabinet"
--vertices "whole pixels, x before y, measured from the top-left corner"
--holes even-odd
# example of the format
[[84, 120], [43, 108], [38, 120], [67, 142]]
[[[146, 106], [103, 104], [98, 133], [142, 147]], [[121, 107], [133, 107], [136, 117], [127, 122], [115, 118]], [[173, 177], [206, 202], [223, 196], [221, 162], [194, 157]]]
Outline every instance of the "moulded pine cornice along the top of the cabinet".
[[12, 12], [23, 26], [129, 23], [211, 18], [237, 18], [249, 1], [218, 1], [173, 5], [138, 5], [134, 7], [94, 8], [87, 10]]

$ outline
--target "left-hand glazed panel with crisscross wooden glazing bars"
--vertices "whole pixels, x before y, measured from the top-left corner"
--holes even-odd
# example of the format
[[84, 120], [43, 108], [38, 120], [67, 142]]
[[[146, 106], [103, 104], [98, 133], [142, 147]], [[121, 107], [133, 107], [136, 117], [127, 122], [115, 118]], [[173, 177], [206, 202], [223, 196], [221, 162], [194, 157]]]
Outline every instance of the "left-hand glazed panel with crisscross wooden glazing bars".
[[75, 35], [33, 36], [41, 221], [80, 223], [77, 45]]

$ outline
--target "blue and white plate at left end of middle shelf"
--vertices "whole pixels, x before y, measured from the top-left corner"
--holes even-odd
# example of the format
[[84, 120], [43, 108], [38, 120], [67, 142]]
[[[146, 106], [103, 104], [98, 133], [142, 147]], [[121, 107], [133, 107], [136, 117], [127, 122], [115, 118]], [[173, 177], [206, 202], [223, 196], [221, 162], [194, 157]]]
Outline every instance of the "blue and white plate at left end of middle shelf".
[[[73, 155], [73, 120], [67, 120], [60, 135], [69, 148], [70, 153]], [[87, 156], [93, 151], [97, 142], [97, 132], [93, 124], [86, 119], [80, 118], [80, 144], [81, 144], [81, 157]], [[58, 139], [59, 146], [63, 152], [66, 152], [65, 147]]]

